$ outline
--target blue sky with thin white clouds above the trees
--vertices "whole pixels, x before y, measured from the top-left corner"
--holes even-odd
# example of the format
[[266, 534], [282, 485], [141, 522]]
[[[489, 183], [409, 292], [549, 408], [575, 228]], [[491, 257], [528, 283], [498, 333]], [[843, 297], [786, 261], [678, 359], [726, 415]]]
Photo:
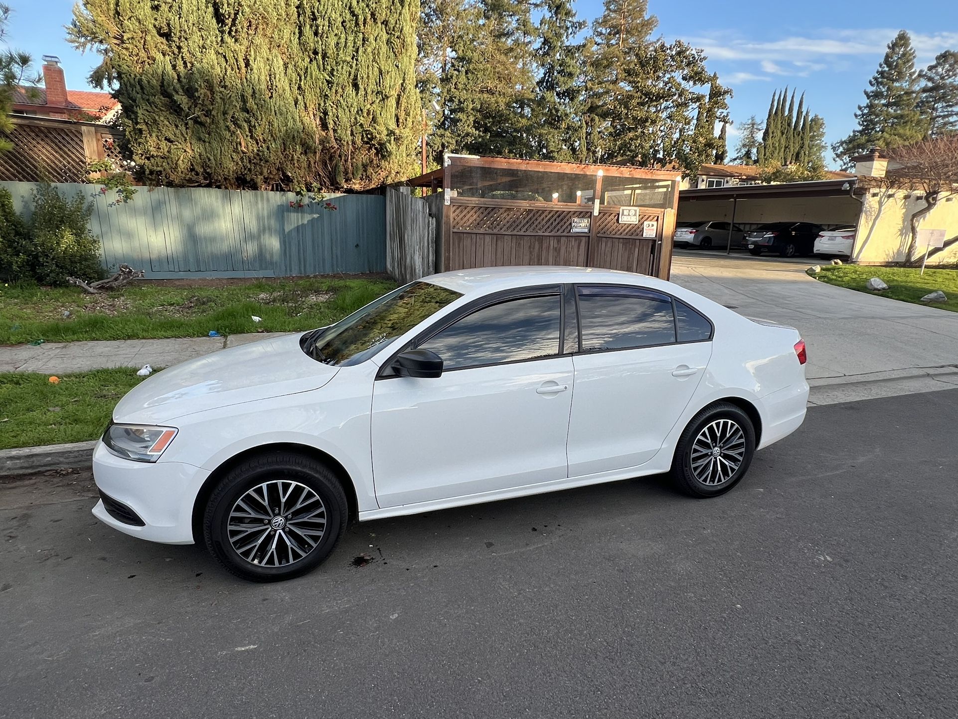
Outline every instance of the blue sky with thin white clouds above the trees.
[[[176, 0], [172, 0], [175, 2]], [[13, 8], [13, 47], [63, 61], [67, 86], [86, 88], [96, 64], [64, 39], [72, 0], [8, 0]], [[885, 46], [901, 29], [912, 35], [918, 62], [942, 50], [958, 50], [958, 3], [872, 0], [650, 0], [659, 19], [657, 33], [702, 48], [708, 66], [735, 92], [732, 119], [764, 120], [772, 91], [797, 87], [806, 106], [825, 118], [831, 143], [855, 128], [855, 108], [875, 73]], [[579, 0], [588, 20], [602, 12], [602, 0]], [[734, 146], [736, 128], [731, 128]]]

